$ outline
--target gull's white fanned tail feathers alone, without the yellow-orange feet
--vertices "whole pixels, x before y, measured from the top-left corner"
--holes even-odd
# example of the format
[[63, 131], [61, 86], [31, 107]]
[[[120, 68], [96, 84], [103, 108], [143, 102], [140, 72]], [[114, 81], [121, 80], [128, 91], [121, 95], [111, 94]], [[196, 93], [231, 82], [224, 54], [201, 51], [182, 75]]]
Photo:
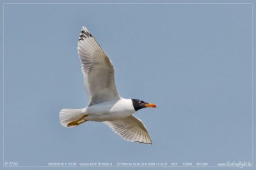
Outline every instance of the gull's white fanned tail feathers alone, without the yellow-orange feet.
[[68, 123], [83, 117], [83, 115], [84, 109], [62, 109], [60, 111], [60, 123], [68, 127]]

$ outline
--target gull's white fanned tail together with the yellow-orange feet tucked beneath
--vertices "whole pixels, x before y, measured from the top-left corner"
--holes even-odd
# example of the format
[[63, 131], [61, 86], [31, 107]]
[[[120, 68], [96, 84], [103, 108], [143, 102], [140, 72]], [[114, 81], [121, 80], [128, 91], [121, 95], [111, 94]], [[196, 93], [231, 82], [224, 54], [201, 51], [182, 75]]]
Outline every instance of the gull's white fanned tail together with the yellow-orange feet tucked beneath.
[[60, 111], [60, 123], [65, 127], [82, 124], [86, 122], [86, 117], [84, 109], [62, 109]]

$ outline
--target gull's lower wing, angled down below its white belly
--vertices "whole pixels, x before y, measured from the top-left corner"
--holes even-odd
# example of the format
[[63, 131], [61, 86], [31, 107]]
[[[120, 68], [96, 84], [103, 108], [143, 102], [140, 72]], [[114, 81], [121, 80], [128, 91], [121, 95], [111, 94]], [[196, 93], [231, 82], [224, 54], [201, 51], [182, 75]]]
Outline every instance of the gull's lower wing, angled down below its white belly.
[[104, 124], [127, 141], [152, 144], [145, 125], [133, 115], [114, 121], [104, 121]]

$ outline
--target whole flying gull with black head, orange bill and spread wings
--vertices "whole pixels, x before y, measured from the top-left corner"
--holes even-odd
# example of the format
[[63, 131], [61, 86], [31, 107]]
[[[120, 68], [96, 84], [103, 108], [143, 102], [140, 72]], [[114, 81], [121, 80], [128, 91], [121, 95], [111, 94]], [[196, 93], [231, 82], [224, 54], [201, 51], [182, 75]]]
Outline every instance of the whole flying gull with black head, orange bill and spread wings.
[[120, 97], [113, 63], [86, 27], [81, 30], [77, 51], [89, 104], [82, 109], [62, 109], [61, 125], [75, 127], [87, 121], [103, 122], [127, 141], [152, 144], [145, 125], [132, 114], [142, 108], [156, 108], [156, 104]]

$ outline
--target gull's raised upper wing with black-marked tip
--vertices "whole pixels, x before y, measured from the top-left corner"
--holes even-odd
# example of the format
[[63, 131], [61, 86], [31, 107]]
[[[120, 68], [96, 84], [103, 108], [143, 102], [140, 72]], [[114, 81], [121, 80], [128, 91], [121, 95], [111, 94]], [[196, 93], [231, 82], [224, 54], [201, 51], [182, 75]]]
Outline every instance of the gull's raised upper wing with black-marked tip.
[[90, 99], [89, 106], [120, 99], [113, 64], [86, 27], [81, 30], [77, 50], [82, 64], [84, 86]]

